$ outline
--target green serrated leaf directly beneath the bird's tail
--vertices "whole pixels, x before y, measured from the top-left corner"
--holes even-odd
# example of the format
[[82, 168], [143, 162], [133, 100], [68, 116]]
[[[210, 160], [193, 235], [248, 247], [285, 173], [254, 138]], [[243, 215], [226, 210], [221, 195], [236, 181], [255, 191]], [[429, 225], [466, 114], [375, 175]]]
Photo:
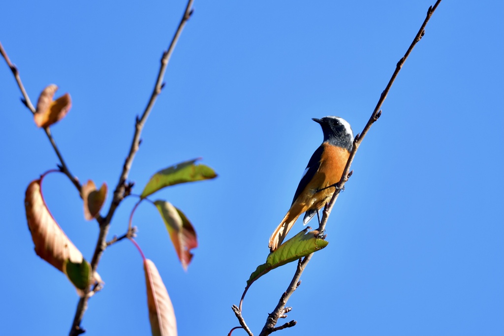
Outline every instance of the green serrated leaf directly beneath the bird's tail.
[[323, 249], [329, 244], [327, 240], [316, 236], [318, 231], [306, 233], [307, 231], [308, 228], [304, 229], [271, 252], [268, 258], [266, 258], [266, 263], [259, 265], [256, 271], [250, 275], [250, 278], [247, 280], [247, 287], [274, 268]]

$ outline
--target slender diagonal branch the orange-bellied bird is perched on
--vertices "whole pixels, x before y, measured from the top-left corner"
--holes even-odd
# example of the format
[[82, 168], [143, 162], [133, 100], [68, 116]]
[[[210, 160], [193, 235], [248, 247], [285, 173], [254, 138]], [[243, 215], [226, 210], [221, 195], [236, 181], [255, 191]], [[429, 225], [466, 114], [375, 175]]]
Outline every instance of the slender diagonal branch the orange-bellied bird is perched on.
[[[437, 6], [439, 5], [440, 2], [441, 2], [441, 0], [437, 0], [436, 3], [434, 4], [434, 6], [429, 7], [429, 9], [427, 11], [427, 16], [426, 16], [425, 20], [423, 21], [422, 26], [420, 27], [418, 33], [416, 34], [415, 38], [413, 39], [413, 42], [409, 46], [409, 48], [406, 51], [406, 53], [404, 54], [404, 56], [397, 63], [396, 70], [392, 74], [392, 77], [391, 77], [389, 83], [387, 84], [387, 87], [382, 92], [382, 95], [380, 96], [380, 99], [378, 100], [378, 103], [376, 104], [376, 107], [374, 108], [373, 112], [371, 113], [371, 117], [367, 121], [367, 123], [364, 126], [364, 129], [362, 130], [362, 132], [355, 137], [355, 140], [354, 140], [354, 143], [353, 143], [353, 148], [352, 148], [352, 151], [351, 151], [350, 156], [348, 158], [345, 170], [344, 170], [344, 172], [343, 172], [343, 174], [341, 176], [340, 181], [334, 185], [334, 187], [335, 187], [336, 190], [335, 190], [335, 192], [334, 192], [331, 200], [324, 207], [324, 212], [323, 212], [322, 220], [321, 220], [321, 223], [320, 223], [319, 228], [318, 228], [318, 231], [321, 234], [325, 230], [327, 221], [329, 219], [329, 215], [331, 214], [333, 206], [336, 203], [336, 200], [338, 199], [338, 195], [340, 194], [341, 190], [343, 190], [343, 188], [345, 186], [345, 183], [348, 181], [348, 178], [352, 175], [352, 172], [350, 172], [350, 166], [351, 166], [351, 164], [353, 162], [353, 159], [355, 157], [355, 154], [356, 154], [357, 150], [359, 149], [359, 145], [362, 143], [362, 140], [364, 139], [364, 137], [366, 136], [367, 132], [371, 128], [371, 125], [382, 114], [381, 108], [382, 108], [383, 102], [385, 101], [385, 98], [387, 98], [387, 95], [388, 95], [388, 93], [390, 91], [390, 88], [392, 87], [392, 84], [396, 80], [396, 77], [399, 74], [399, 71], [401, 70], [404, 62], [406, 61], [406, 59], [410, 55], [411, 51], [413, 50], [413, 48], [415, 47], [415, 45], [418, 43], [418, 41], [420, 41], [420, 39], [425, 34], [425, 26], [427, 25], [427, 22], [429, 21], [430, 17], [434, 13], [435, 9], [437, 8]], [[307, 255], [301, 262], [298, 263], [298, 266], [297, 266], [297, 269], [296, 269], [296, 273], [294, 274], [294, 278], [292, 279], [289, 287], [287, 288], [287, 291], [282, 294], [282, 296], [281, 296], [281, 298], [280, 298], [280, 300], [279, 300], [279, 302], [278, 302], [275, 310], [273, 310], [273, 312], [271, 314], [269, 314], [269, 316], [268, 316], [268, 318], [266, 320], [266, 324], [264, 325], [263, 330], [261, 331], [261, 333], [260, 333], [259, 336], [267, 336], [267, 335], [271, 334], [272, 332], [274, 332], [276, 330], [283, 329], [284, 325], [290, 323], [289, 322], [289, 323], [286, 323], [286, 324], [284, 324], [284, 325], [282, 325], [280, 327], [275, 328], [275, 325], [277, 324], [278, 319], [281, 318], [281, 317], [285, 317], [285, 315], [283, 314], [283, 310], [285, 309], [284, 308], [285, 304], [287, 303], [287, 300], [292, 295], [292, 293], [296, 290], [296, 288], [298, 286], [297, 285], [298, 281], [299, 281], [299, 279], [301, 277], [301, 274], [303, 273], [304, 268], [306, 267], [306, 264], [308, 263], [308, 261], [310, 260], [310, 258], [311, 258], [312, 255], [313, 255], [313, 253]], [[292, 325], [288, 325], [288, 326], [292, 326]], [[285, 327], [288, 327], [288, 326], [285, 326]]]

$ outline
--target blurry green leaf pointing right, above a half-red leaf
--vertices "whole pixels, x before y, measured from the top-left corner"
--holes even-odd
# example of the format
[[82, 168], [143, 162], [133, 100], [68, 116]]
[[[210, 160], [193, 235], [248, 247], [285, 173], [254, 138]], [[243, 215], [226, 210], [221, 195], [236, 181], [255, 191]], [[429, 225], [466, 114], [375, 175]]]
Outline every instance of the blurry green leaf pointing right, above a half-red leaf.
[[217, 177], [212, 168], [202, 164], [195, 165], [195, 162], [198, 160], [185, 161], [158, 171], [151, 177], [140, 197], [145, 198], [159, 189], [170, 185]]

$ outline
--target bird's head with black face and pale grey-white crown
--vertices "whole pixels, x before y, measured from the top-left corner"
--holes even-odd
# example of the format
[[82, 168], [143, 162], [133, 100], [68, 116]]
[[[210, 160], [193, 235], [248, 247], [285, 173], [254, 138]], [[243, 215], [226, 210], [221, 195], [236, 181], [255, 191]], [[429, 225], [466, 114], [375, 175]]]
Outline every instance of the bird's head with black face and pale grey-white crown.
[[345, 148], [349, 152], [353, 147], [353, 131], [350, 124], [340, 117], [328, 116], [322, 119], [313, 118], [320, 123], [324, 132], [324, 142]]

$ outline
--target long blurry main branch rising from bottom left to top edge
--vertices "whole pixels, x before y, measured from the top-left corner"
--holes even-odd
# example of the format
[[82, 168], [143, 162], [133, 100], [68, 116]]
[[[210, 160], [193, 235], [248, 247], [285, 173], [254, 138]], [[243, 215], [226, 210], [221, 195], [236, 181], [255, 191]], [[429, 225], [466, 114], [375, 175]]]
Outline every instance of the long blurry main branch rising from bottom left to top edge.
[[[137, 117], [137, 121], [135, 124], [135, 134], [133, 136], [130, 152], [124, 161], [124, 165], [122, 166], [122, 172], [120, 174], [119, 181], [117, 182], [117, 186], [115, 187], [112, 203], [110, 204], [107, 216], [105, 218], [99, 219], [100, 233], [98, 235], [98, 241], [96, 242], [95, 251], [91, 259], [91, 268], [93, 272], [96, 270], [98, 262], [100, 261], [100, 258], [103, 254], [103, 251], [107, 247], [106, 238], [108, 230], [110, 228], [110, 222], [112, 220], [115, 210], [121, 203], [122, 199], [124, 199], [125, 197], [125, 192], [127, 191], [128, 188], [126, 180], [128, 179], [128, 175], [130, 173], [131, 165], [133, 163], [133, 159], [135, 158], [135, 154], [137, 153], [140, 146], [140, 136], [142, 134], [145, 121], [147, 120], [147, 117], [149, 116], [152, 107], [154, 106], [157, 96], [161, 93], [161, 89], [163, 86], [162, 85], [163, 78], [166, 72], [166, 66], [168, 65], [170, 56], [173, 52], [173, 49], [175, 48], [175, 45], [177, 44], [178, 38], [185, 26], [185, 23], [187, 22], [187, 20], [189, 20], [191, 14], [193, 13], [192, 9], [193, 2], [194, 0], [188, 0], [187, 6], [185, 7], [185, 12], [182, 16], [182, 19], [180, 20], [180, 23], [178, 24], [178, 28], [175, 32], [175, 35], [173, 36], [173, 39], [171, 40], [170, 46], [168, 47], [168, 50], [166, 50], [163, 53], [163, 57], [161, 58], [161, 66], [156, 80], [156, 85], [154, 86], [154, 90], [152, 91], [151, 97], [149, 99], [149, 102], [147, 103], [147, 107], [145, 108], [142, 114], [142, 117], [140, 119]], [[87, 291], [89, 291], [89, 289], [87, 289]], [[88, 299], [89, 299], [88, 296], [85, 295], [83, 298], [79, 300], [79, 304], [75, 312], [74, 322], [72, 324], [72, 328], [70, 329], [71, 336], [76, 336], [79, 334], [80, 324], [84, 316], [84, 312], [86, 311], [87, 308]], [[83, 301], [86, 301], [86, 303], [83, 303]]]

